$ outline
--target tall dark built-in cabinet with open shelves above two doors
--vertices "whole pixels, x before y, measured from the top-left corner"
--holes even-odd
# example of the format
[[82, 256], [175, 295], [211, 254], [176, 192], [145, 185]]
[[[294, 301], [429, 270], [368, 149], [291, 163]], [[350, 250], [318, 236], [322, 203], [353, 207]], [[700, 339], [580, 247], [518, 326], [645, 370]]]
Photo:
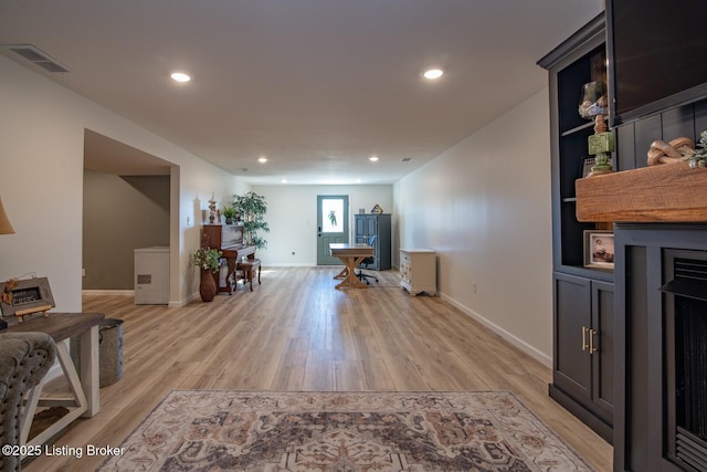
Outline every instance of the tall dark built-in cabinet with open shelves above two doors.
[[[582, 178], [594, 123], [579, 114], [583, 85], [606, 82], [603, 13], [538, 64], [549, 71], [552, 171], [553, 375], [550, 396], [612, 441], [613, 271], [584, 266], [585, 231], [574, 181]], [[615, 166], [614, 166], [615, 167]]]

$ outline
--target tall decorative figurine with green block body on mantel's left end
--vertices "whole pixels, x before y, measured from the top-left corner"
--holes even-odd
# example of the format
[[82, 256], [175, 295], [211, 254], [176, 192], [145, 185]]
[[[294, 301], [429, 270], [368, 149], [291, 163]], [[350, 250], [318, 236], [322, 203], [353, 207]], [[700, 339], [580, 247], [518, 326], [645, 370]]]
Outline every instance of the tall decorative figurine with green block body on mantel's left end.
[[590, 82], [582, 87], [582, 99], [579, 114], [582, 118], [594, 120], [594, 134], [589, 137], [589, 154], [595, 155], [592, 171], [587, 177], [613, 172], [609, 162], [609, 153], [614, 150], [614, 135], [608, 132], [605, 116], [608, 114], [606, 84], [601, 81]]

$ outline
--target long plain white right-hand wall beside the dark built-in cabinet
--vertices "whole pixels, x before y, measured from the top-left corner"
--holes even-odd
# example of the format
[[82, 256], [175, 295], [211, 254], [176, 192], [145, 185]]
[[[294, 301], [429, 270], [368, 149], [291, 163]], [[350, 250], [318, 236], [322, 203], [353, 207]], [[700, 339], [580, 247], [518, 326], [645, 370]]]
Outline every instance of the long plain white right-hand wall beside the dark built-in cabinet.
[[394, 186], [400, 245], [439, 251], [442, 295], [546, 365], [552, 353], [548, 103], [546, 88]]

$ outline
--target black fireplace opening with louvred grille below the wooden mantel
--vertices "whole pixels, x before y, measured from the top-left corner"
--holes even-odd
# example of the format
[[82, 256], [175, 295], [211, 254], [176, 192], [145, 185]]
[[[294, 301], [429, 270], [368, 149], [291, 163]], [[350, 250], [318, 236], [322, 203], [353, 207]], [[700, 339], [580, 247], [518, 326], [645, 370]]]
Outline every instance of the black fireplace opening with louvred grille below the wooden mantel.
[[[705, 253], [700, 253], [705, 255]], [[666, 292], [665, 375], [668, 457], [707, 470], [707, 256], [671, 258]]]

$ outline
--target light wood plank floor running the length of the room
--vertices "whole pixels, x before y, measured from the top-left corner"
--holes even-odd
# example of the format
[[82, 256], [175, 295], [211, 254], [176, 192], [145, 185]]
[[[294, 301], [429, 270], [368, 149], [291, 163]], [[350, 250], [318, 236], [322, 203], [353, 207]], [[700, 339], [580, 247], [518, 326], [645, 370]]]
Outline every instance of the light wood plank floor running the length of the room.
[[[510, 390], [611, 471], [611, 445], [548, 397], [550, 369], [442, 298], [408, 295], [397, 272], [378, 273], [369, 290], [337, 291], [339, 269], [265, 268], [252, 293], [182, 308], [85, 297], [84, 312], [124, 321], [123, 379], [101, 389], [96, 417], [55, 444], [118, 445], [172, 389]], [[23, 469], [88, 471], [102, 461], [42, 457]]]

